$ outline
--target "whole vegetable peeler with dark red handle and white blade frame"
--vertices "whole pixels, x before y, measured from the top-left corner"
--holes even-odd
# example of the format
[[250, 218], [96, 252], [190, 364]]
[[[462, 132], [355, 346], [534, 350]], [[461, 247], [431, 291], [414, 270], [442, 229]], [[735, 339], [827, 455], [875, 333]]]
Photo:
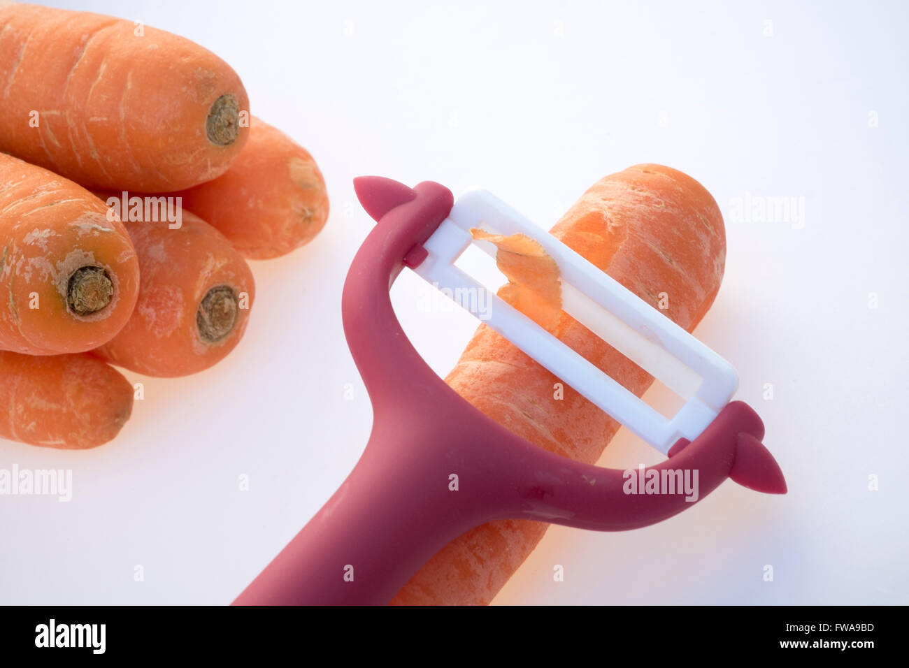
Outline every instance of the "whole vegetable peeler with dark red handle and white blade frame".
[[[783, 474], [761, 443], [760, 417], [730, 401], [738, 383], [733, 367], [684, 328], [488, 192], [468, 192], [454, 204], [445, 186], [430, 181], [410, 188], [363, 176], [354, 184], [377, 224], [347, 274], [342, 313], [373, 404], [372, 434], [344, 484], [235, 604], [385, 604], [446, 543], [482, 523], [513, 518], [620, 531], [696, 503], [684, 494], [626, 494], [625, 472], [529, 443], [456, 394], [416, 352], [389, 288], [407, 267], [449, 288], [446, 294], [484, 290], [454, 265], [474, 243], [474, 227], [541, 244], [561, 273], [563, 310], [686, 397], [665, 418], [488, 295], [485, 324], [668, 455], [644, 474], [697, 472], [699, 498], [726, 478], [785, 493]], [[494, 254], [492, 244], [475, 243]]]

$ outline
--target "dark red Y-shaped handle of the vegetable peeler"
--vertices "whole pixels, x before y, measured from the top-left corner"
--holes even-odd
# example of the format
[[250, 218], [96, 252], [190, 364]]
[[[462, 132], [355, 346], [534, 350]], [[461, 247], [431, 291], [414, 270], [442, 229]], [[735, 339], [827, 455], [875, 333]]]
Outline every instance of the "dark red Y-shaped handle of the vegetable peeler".
[[[412, 190], [375, 176], [356, 179], [355, 188], [378, 224], [347, 274], [342, 312], [373, 431], [345, 483], [235, 604], [384, 604], [481, 523], [522, 518], [617, 531], [694, 505], [684, 494], [625, 494], [623, 471], [528, 443], [445, 384], [401, 329], [388, 289], [405, 265], [423, 261], [422, 244], [448, 215], [452, 194], [433, 182]], [[699, 499], [727, 477], [784, 493], [763, 437], [757, 414], [732, 402], [693, 443], [675, 444], [670, 459], [647, 471], [697, 470]]]

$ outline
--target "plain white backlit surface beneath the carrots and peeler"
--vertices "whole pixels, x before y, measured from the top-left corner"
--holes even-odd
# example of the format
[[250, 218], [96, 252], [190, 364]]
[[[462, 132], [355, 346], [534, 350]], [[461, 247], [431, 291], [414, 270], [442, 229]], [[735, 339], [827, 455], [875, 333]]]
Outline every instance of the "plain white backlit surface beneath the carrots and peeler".
[[[253, 112], [315, 155], [332, 215], [304, 250], [254, 265], [235, 354], [146, 380], [115, 443], [0, 444], [0, 466], [74, 472], [70, 503], [0, 498], [0, 602], [227, 603], [335, 490], [371, 419], [340, 319], [371, 225], [352, 177], [483, 184], [542, 223], [649, 161], [724, 210], [726, 275], [697, 335], [737, 368], [790, 493], [727, 483], [647, 529], [554, 527], [496, 602], [909, 603], [904, 4], [73, 5], [223, 56]], [[734, 198], [783, 196], [804, 198], [792, 221], [736, 214]], [[474, 320], [421, 313], [421, 283], [405, 276], [395, 302], [444, 374]], [[658, 457], [621, 434], [603, 463]]]

